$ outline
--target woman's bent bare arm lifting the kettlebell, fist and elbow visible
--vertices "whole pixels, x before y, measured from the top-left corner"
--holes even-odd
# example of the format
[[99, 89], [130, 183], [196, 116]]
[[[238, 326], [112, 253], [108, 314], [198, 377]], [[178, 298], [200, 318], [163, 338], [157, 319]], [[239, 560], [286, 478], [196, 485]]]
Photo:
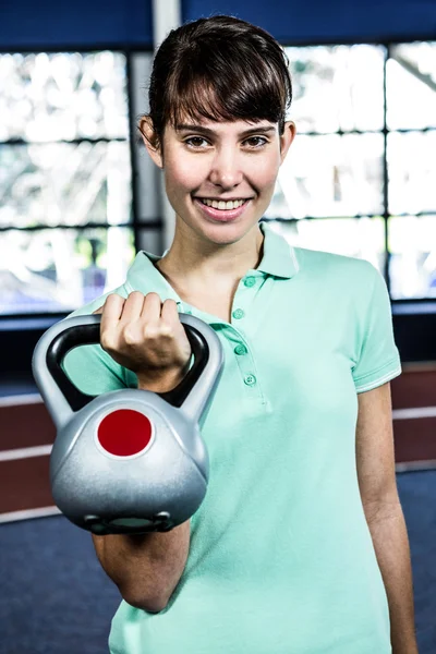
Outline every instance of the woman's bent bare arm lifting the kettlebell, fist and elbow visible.
[[[185, 376], [191, 346], [177, 304], [161, 305], [157, 293], [133, 292], [124, 301], [109, 295], [100, 325], [100, 344], [136, 373], [140, 389], [165, 392]], [[190, 521], [170, 532], [142, 535], [93, 535], [97, 558], [130, 605], [162, 610], [183, 573], [190, 548]]]

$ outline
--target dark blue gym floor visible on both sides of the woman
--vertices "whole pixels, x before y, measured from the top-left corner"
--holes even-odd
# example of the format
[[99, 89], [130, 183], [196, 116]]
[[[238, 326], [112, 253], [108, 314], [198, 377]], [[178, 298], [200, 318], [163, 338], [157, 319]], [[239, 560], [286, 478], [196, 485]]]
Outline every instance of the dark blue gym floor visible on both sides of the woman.
[[[436, 471], [397, 474], [397, 481], [411, 547], [420, 654], [435, 654]], [[0, 525], [0, 654], [108, 653], [120, 595], [100, 568], [89, 534], [60, 516], [15, 522]]]

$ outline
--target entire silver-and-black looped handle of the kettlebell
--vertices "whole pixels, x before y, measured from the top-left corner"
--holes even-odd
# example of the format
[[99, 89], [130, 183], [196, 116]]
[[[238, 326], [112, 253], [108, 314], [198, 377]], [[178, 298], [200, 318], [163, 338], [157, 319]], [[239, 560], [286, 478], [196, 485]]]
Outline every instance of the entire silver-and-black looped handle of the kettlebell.
[[[155, 395], [173, 407], [182, 408], [191, 420], [198, 422], [220, 378], [223, 351], [218, 336], [204, 320], [183, 313], [179, 314], [179, 319], [191, 343], [194, 363], [175, 388]], [[35, 382], [58, 428], [70, 420], [72, 413], [95, 399], [95, 396], [86, 395], [74, 386], [61, 364], [73, 348], [100, 342], [100, 322], [99, 314], [60, 320], [40, 337], [34, 350], [32, 368]], [[199, 376], [201, 387], [191, 392]]]

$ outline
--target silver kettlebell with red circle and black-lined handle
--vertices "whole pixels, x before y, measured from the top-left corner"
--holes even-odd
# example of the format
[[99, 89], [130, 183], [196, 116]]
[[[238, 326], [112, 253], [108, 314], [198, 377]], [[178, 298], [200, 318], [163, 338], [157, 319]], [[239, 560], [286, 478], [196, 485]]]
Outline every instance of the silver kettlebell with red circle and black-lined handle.
[[35, 382], [57, 427], [50, 484], [57, 507], [94, 534], [165, 532], [202, 504], [209, 460], [201, 426], [221, 377], [223, 351], [206, 323], [180, 313], [194, 362], [168, 392], [80, 391], [62, 368], [77, 346], [100, 342], [100, 315], [65, 318], [36, 344]]

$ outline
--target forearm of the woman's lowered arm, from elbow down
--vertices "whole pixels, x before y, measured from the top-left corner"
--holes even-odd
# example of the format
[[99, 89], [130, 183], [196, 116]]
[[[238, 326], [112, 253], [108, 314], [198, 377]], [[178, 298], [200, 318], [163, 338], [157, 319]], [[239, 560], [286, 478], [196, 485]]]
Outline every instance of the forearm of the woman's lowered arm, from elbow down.
[[392, 654], [417, 654], [412, 567], [401, 505], [366, 507], [365, 516], [388, 597]]

